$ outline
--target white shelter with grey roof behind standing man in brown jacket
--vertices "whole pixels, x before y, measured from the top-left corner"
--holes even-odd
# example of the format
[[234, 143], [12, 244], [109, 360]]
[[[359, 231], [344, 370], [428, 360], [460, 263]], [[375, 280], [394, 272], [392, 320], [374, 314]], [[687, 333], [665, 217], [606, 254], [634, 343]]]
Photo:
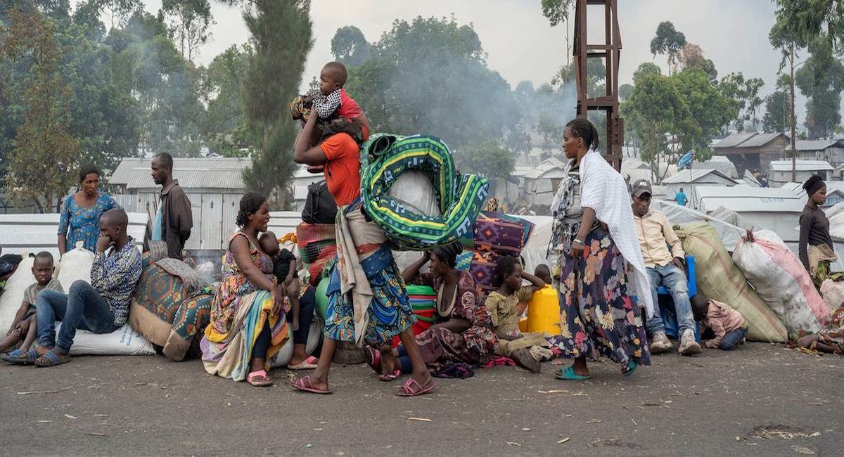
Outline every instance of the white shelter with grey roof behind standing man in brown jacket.
[[[115, 199], [127, 211], [145, 212], [154, 218], [161, 186], [150, 175], [151, 158], [124, 158], [108, 179], [116, 187]], [[186, 250], [223, 250], [246, 191], [243, 170], [252, 159], [174, 158], [173, 178], [191, 200], [193, 229]]]

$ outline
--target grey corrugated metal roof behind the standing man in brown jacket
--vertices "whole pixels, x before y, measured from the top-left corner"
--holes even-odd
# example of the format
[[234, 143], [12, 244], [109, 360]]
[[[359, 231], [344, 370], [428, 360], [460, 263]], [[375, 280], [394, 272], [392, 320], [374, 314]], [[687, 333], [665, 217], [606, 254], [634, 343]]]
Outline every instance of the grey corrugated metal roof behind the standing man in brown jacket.
[[[127, 189], [157, 187], [150, 176], [152, 159], [124, 158], [109, 178], [113, 185]], [[241, 190], [243, 170], [252, 166], [252, 159], [232, 158], [177, 158], [173, 159], [173, 178], [183, 189], [235, 189]]]

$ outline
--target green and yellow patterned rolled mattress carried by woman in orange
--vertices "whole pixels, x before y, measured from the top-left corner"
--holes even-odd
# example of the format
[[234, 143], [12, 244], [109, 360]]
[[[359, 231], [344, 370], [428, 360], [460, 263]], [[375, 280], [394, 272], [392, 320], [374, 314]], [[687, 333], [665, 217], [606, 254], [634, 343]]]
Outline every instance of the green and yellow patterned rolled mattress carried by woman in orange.
[[[428, 250], [472, 236], [489, 184], [478, 175], [460, 175], [452, 153], [437, 137], [376, 134], [361, 147], [361, 200], [399, 250]], [[425, 171], [434, 187], [440, 216], [419, 214], [390, 195], [408, 170]]]

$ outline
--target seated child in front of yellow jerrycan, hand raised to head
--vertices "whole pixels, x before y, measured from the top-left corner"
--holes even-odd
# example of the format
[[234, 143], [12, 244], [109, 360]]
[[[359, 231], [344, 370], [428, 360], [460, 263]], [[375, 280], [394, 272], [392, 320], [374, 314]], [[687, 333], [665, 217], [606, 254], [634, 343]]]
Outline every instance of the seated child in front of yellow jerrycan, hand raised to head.
[[[522, 272], [515, 257], [504, 256], [495, 266], [501, 286], [486, 298], [486, 308], [492, 315], [492, 326], [499, 338], [498, 353], [513, 359], [519, 366], [539, 373], [544, 358], [551, 358], [549, 342], [544, 333], [522, 333], [519, 318], [527, 309], [533, 293], [545, 287], [545, 282], [530, 273]], [[522, 277], [531, 282], [522, 286]]]

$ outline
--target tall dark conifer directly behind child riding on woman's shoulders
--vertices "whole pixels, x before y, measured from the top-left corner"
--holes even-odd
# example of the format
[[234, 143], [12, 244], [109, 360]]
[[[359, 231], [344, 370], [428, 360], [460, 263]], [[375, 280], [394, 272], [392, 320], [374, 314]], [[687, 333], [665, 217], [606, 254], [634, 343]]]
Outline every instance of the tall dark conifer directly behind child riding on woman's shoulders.
[[252, 168], [246, 186], [269, 196], [273, 207], [289, 206], [286, 191], [297, 165], [293, 161], [296, 127], [287, 106], [299, 92], [313, 46], [309, 0], [248, 0], [243, 19], [252, 53], [243, 82], [246, 123], [253, 135]]

